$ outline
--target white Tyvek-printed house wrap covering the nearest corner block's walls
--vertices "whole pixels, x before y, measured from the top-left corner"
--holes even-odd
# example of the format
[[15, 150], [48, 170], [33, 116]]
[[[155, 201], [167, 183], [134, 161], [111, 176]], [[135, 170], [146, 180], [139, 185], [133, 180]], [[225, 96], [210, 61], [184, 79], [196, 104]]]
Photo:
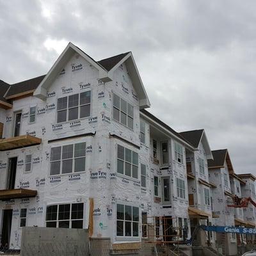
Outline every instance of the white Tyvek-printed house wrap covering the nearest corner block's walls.
[[[81, 68], [73, 70], [74, 66]], [[88, 198], [92, 197], [94, 198], [93, 236], [111, 237], [111, 240], [115, 242], [116, 202], [129, 202], [138, 207], [143, 204], [145, 209], [147, 209], [147, 205], [150, 205], [149, 202], [141, 202], [140, 179], [132, 180], [116, 175], [116, 144], [125, 145], [137, 152], [139, 150], [132, 145], [126, 145], [123, 141], [109, 138], [109, 133], [118, 134], [125, 140], [132, 141], [134, 145], [140, 145], [140, 114], [136, 92], [132, 88], [125, 65], [118, 68], [114, 76], [112, 82], [100, 83], [98, 71], [81, 56], [74, 54], [49, 88], [46, 101], [35, 97], [15, 100], [12, 111], [6, 111], [6, 123], [4, 124], [6, 138], [12, 136], [13, 112], [20, 110], [22, 110], [20, 134], [30, 134], [42, 138], [40, 145], [0, 153], [3, 166], [0, 170], [1, 189], [5, 188], [8, 158], [17, 156], [15, 188], [38, 191], [35, 198], [0, 202], [1, 209], [13, 209], [11, 248], [17, 249], [20, 246], [22, 228], [19, 227], [19, 222], [22, 208], [28, 209], [27, 226], [45, 227], [47, 205], [83, 202], [83, 227], [86, 228], [88, 227]], [[86, 90], [92, 92], [90, 118], [56, 124], [58, 97]], [[134, 131], [111, 120], [113, 91], [134, 106]], [[36, 106], [36, 122], [34, 124], [29, 124], [29, 108], [31, 106]], [[96, 133], [94, 136], [48, 143], [49, 140], [91, 132]], [[86, 142], [86, 171], [50, 177], [51, 147], [81, 141]], [[24, 172], [26, 154], [33, 155], [32, 170], [28, 173]]]

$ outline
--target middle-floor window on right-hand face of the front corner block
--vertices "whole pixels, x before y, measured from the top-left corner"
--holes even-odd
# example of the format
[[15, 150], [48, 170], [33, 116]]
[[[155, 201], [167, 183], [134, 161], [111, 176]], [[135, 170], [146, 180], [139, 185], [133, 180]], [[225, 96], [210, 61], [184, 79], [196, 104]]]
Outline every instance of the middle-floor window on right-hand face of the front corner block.
[[138, 153], [117, 145], [117, 172], [138, 179]]

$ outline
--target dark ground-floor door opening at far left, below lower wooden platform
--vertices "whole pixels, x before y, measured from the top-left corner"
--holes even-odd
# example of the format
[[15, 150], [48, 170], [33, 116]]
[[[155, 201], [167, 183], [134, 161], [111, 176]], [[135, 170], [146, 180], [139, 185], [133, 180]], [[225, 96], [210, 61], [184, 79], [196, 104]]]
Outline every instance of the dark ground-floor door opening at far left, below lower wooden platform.
[[11, 228], [12, 228], [12, 209], [3, 210], [1, 244], [4, 249], [10, 248]]

